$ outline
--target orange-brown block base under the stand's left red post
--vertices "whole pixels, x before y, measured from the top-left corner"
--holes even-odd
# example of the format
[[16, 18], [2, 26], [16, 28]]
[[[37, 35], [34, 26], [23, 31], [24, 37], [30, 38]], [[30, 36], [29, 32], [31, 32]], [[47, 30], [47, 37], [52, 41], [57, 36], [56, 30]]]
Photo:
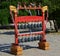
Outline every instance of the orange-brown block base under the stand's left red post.
[[13, 43], [11, 46], [11, 54], [22, 55], [22, 53], [23, 53], [22, 50], [23, 50], [23, 48], [20, 47], [18, 44]]

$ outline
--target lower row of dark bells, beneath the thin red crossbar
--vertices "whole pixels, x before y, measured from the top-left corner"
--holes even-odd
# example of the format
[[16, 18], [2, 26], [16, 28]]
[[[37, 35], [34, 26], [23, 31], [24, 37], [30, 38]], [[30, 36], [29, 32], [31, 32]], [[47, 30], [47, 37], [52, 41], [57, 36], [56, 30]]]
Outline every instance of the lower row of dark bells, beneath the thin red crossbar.
[[37, 40], [40, 40], [42, 38], [41, 35], [38, 35], [38, 36], [30, 36], [30, 37], [22, 37], [21, 39], [19, 38], [19, 43], [21, 42], [31, 42], [31, 41], [37, 41]]

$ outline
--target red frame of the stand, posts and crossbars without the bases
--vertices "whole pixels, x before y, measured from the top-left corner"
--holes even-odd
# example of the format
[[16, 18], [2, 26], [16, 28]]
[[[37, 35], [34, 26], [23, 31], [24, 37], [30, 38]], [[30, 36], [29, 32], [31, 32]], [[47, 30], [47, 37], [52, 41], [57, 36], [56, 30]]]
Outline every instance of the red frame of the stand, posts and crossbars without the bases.
[[[20, 8], [20, 9], [24, 9], [24, 8]], [[29, 9], [29, 8], [27, 8]], [[32, 8], [30, 8], [32, 9]], [[36, 9], [36, 8], [34, 8]], [[40, 10], [42, 10], [41, 8], [38, 8]], [[44, 19], [44, 12], [42, 11], [42, 16], [17, 16], [17, 12], [14, 14], [14, 19], [13, 20], [13, 23], [15, 25], [15, 44], [18, 44], [18, 36], [29, 36], [30, 33], [19, 33], [18, 32], [18, 23], [19, 22], [39, 22], [41, 21], [42, 22], [42, 31], [39, 31], [39, 32], [32, 32], [32, 35], [38, 35], [38, 34], [42, 34], [42, 39], [41, 41], [44, 41], [46, 40], [45, 38], [45, 19]]]

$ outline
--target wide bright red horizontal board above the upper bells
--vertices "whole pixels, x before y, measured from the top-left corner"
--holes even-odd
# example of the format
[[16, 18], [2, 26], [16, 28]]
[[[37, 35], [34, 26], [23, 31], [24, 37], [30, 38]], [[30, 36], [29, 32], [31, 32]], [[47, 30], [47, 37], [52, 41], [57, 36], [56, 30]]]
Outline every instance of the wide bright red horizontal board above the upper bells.
[[19, 16], [16, 17], [15, 21], [16, 22], [39, 22], [39, 21], [43, 21], [43, 17], [42, 16]]

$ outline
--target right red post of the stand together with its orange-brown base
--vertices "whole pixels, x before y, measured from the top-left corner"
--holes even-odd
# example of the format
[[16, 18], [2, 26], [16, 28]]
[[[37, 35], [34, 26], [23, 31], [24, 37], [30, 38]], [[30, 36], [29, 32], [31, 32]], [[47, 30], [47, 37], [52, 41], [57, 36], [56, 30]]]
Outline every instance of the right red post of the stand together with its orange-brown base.
[[49, 43], [46, 41], [46, 36], [45, 36], [45, 30], [46, 30], [46, 25], [45, 25], [45, 21], [44, 21], [44, 12], [43, 12], [43, 21], [42, 21], [42, 38], [40, 40], [40, 42], [38, 43], [39, 48], [43, 49], [43, 50], [48, 50], [49, 49]]

